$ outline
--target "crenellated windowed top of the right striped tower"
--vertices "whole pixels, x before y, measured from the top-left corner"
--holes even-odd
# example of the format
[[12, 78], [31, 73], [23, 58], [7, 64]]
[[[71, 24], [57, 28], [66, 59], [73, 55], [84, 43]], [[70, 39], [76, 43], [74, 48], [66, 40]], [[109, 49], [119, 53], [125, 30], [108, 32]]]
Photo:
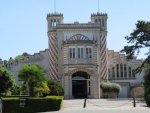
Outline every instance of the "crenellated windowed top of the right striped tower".
[[91, 14], [91, 22], [99, 24], [101, 29], [107, 31], [107, 14], [106, 13], [94, 13]]

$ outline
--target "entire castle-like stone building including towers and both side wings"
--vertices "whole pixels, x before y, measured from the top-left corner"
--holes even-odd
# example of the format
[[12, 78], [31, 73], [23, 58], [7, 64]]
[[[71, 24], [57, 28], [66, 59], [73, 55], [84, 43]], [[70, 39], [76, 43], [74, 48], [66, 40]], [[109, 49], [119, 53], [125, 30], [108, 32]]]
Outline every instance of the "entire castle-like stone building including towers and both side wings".
[[[101, 81], [119, 83], [119, 97], [130, 96], [130, 88], [143, 82], [135, 74], [141, 60], [107, 49], [107, 14], [91, 14], [88, 23], [63, 23], [63, 14], [48, 14], [48, 49], [10, 65], [17, 76], [24, 63], [39, 64], [49, 79], [59, 82], [65, 98], [101, 98]], [[19, 79], [17, 79], [19, 81]]]

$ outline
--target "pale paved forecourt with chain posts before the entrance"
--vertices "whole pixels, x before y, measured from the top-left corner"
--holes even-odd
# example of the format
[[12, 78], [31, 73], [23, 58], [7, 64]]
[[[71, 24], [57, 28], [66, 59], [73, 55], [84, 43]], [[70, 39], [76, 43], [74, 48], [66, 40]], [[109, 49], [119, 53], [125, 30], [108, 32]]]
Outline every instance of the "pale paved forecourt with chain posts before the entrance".
[[54, 113], [150, 113], [142, 100], [136, 100], [133, 107], [132, 99], [87, 99], [83, 106], [84, 99], [64, 100], [62, 110]]

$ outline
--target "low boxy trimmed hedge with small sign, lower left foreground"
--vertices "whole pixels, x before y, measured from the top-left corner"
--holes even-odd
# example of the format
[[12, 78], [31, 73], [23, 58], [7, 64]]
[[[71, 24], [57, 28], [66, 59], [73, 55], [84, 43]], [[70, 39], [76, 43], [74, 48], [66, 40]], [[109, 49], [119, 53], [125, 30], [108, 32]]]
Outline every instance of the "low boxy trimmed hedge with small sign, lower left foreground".
[[25, 97], [27, 105], [20, 106], [19, 98], [3, 98], [3, 113], [36, 113], [58, 111], [61, 108], [63, 97]]

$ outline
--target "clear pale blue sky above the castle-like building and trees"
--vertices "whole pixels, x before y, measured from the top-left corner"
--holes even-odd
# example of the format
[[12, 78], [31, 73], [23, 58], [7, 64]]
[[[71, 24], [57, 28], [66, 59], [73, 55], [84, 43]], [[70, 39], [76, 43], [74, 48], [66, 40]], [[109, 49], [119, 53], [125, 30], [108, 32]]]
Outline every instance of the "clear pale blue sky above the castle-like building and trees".
[[137, 21], [150, 21], [149, 5], [150, 0], [99, 0], [99, 5], [98, 0], [0, 0], [0, 58], [47, 49], [46, 16], [54, 12], [63, 13], [64, 23], [87, 23], [91, 13], [107, 13], [107, 47], [120, 51]]

